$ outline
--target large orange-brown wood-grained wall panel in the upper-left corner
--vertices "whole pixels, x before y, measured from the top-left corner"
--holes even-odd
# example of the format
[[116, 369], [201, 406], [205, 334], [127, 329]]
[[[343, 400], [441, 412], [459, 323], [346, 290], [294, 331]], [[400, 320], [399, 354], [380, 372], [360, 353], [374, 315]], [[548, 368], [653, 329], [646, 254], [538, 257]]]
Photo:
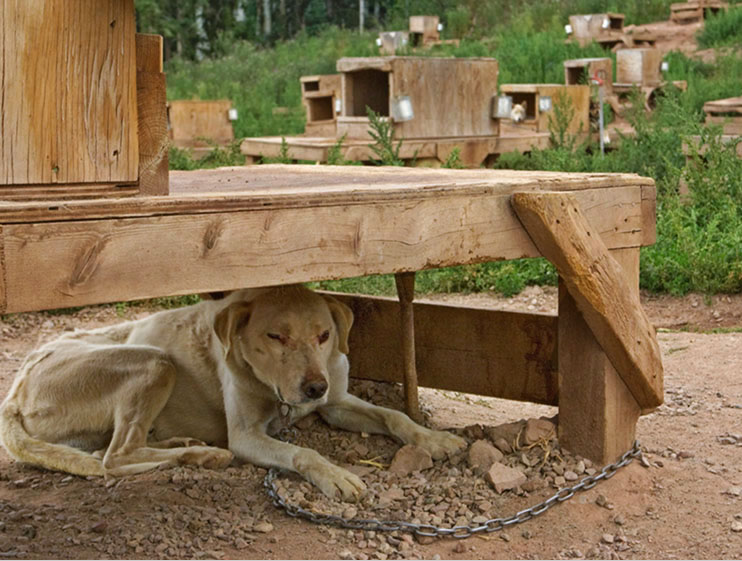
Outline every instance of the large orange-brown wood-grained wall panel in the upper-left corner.
[[0, 185], [137, 182], [134, 32], [133, 0], [0, 3]]

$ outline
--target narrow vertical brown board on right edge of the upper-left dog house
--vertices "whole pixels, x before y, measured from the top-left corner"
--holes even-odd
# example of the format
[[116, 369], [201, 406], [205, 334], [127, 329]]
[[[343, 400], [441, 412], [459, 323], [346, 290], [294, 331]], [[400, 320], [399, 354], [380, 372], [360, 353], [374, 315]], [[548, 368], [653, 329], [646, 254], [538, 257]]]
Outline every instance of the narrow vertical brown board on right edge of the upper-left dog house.
[[162, 71], [162, 37], [137, 33], [139, 192], [168, 194], [167, 95]]

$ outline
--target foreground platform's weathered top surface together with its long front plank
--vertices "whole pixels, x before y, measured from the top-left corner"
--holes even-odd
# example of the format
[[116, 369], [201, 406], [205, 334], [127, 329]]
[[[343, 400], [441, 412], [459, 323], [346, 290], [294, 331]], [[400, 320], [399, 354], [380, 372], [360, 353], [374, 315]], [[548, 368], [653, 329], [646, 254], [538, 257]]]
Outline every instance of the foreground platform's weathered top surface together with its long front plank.
[[644, 243], [652, 182], [633, 175], [317, 168], [173, 173], [170, 196], [137, 201], [2, 203], [3, 312], [536, 256], [509, 197], [547, 186], [575, 190], [608, 247]]

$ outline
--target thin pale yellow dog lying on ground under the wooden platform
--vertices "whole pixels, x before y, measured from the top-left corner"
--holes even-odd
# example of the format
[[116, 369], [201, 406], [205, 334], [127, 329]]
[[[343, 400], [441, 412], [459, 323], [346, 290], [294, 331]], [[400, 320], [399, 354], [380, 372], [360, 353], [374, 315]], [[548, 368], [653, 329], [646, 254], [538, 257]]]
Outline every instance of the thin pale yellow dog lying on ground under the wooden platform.
[[234, 455], [351, 499], [365, 489], [356, 475], [270, 435], [317, 411], [436, 459], [465, 445], [348, 393], [352, 323], [346, 305], [294, 285], [70, 333], [26, 358], [0, 407], [0, 439], [19, 461], [77, 475], [222, 468]]

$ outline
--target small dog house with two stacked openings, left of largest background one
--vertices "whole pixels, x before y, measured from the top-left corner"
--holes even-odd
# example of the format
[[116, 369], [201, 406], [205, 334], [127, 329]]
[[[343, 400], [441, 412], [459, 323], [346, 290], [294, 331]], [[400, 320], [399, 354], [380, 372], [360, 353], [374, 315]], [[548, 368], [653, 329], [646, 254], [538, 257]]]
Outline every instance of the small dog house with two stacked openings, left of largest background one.
[[307, 114], [304, 134], [307, 136], [335, 136], [336, 117], [342, 103], [340, 75], [302, 76], [300, 81], [301, 101]]

